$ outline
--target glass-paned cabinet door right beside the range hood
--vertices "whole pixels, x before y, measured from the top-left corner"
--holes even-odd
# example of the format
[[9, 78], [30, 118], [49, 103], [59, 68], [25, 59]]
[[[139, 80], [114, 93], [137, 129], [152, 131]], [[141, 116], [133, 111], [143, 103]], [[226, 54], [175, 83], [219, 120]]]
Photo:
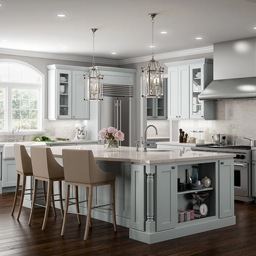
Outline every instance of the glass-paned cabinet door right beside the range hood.
[[190, 119], [204, 119], [204, 101], [198, 95], [204, 90], [204, 64], [191, 65], [190, 75]]

